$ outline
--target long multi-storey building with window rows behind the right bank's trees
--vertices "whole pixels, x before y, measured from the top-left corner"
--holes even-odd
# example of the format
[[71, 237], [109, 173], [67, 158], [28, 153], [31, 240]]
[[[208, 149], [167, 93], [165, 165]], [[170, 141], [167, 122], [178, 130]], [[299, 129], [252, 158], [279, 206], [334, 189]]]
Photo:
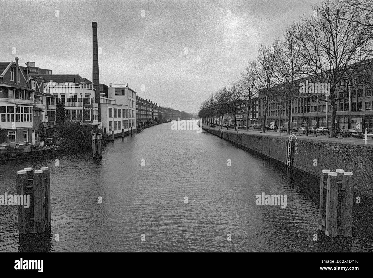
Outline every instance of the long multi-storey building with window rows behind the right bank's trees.
[[[340, 98], [334, 106], [336, 109], [336, 129], [356, 129], [364, 132], [364, 128], [373, 128], [373, 62], [364, 63], [361, 70], [356, 71], [349, 82], [348, 94], [344, 97], [346, 81], [337, 84], [334, 98]], [[303, 82], [303, 81], [299, 81]], [[263, 124], [265, 101], [259, 91], [259, 123]], [[327, 97], [304, 97], [301, 93], [291, 100], [291, 122], [295, 126], [331, 127], [332, 107]], [[288, 120], [288, 102], [273, 94], [269, 97], [266, 124], [274, 122], [282, 126]]]

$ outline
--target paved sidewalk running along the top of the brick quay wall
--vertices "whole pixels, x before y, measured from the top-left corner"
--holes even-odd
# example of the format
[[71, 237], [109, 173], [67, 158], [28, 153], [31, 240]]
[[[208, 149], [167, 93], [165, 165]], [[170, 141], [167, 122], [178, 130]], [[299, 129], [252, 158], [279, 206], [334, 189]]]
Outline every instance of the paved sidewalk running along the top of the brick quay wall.
[[[261, 135], [261, 136], [280, 136], [281, 137], [289, 137], [290, 135], [287, 134], [287, 132], [275, 132], [275, 131], [270, 131], [266, 130], [266, 132], [263, 133], [261, 130], [249, 130], [246, 131], [246, 129], [237, 129], [235, 130], [234, 128], [227, 128], [224, 126], [223, 128], [219, 127], [210, 127], [208, 125], [202, 125], [203, 128], [205, 129], [215, 129], [215, 130], [223, 130], [223, 132], [232, 132], [232, 133], [250, 133], [250, 134], [256, 134], [256, 135]], [[349, 137], [339, 137], [339, 138], [329, 138], [329, 136], [322, 136], [319, 137], [320, 134], [317, 134], [314, 136], [313, 134], [305, 136], [305, 134], [299, 134], [299, 132], [291, 132], [291, 134], [295, 134], [298, 139], [304, 139], [304, 140], [316, 140], [316, 141], [327, 141], [327, 142], [333, 142], [333, 143], [342, 143], [342, 144], [351, 144], [351, 145], [364, 145], [364, 139], [363, 138], [349, 138]], [[367, 141], [367, 146], [373, 146], [373, 141]]]

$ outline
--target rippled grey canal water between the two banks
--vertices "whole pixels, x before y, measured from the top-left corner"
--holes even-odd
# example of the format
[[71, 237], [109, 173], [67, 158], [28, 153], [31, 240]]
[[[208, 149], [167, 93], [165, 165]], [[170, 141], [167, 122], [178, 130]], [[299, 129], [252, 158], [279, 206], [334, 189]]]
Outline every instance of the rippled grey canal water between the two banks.
[[[170, 126], [107, 143], [102, 160], [87, 151], [0, 166], [0, 194], [16, 194], [17, 170], [50, 167], [52, 221], [50, 235], [20, 240], [16, 206], [0, 206], [0, 252], [320, 251], [316, 178]], [[286, 207], [257, 205], [263, 192], [286, 194]], [[350, 251], [372, 242], [354, 237]]]

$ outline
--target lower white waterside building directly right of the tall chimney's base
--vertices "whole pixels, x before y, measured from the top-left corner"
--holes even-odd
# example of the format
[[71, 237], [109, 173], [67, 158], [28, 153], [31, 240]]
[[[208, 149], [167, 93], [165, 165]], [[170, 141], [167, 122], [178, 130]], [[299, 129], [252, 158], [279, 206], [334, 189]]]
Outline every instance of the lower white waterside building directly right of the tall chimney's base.
[[115, 99], [105, 97], [101, 93], [101, 123], [103, 133], [105, 135], [121, 134], [122, 131], [130, 132], [128, 127], [128, 106], [125, 104], [117, 104]]

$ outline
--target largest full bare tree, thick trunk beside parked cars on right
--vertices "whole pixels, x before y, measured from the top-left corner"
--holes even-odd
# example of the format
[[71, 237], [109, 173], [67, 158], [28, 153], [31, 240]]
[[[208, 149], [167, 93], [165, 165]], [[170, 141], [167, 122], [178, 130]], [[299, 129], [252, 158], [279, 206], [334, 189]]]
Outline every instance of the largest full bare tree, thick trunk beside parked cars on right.
[[[357, 10], [350, 10], [340, 0], [325, 0], [314, 6], [313, 16], [304, 16], [298, 32], [298, 40], [303, 44], [301, 58], [304, 63], [305, 80], [328, 84], [330, 90], [307, 90], [305, 97], [317, 98], [331, 105], [330, 137], [336, 136], [335, 103], [348, 94], [348, 86], [354, 69], [360, 61], [369, 57], [371, 37], [368, 26], [361, 26], [355, 19]], [[348, 19], [348, 20], [346, 20]], [[343, 96], [334, 92], [343, 86]], [[306, 88], [307, 89], [307, 88]], [[326, 93], [326, 94], [325, 94]], [[325, 96], [329, 96], [327, 99]]]

